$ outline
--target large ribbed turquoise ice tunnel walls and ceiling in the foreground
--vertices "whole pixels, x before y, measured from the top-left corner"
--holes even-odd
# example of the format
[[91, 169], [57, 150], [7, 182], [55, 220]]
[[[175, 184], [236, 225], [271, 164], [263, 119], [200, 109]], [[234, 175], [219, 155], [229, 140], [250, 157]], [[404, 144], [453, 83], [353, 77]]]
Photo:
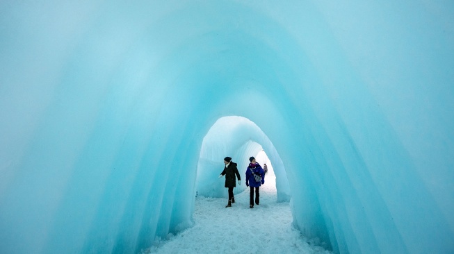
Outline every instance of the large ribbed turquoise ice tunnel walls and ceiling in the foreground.
[[305, 235], [453, 253], [453, 69], [453, 1], [1, 1], [0, 252], [191, 226], [203, 139], [241, 116]]

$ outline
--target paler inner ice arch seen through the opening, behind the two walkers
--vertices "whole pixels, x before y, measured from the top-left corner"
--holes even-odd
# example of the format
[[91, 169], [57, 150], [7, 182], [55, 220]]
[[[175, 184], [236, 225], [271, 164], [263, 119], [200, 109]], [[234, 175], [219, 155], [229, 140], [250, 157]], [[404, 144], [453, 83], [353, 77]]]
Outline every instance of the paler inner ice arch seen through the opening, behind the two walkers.
[[[269, 119], [273, 121], [273, 119]], [[248, 158], [264, 149], [276, 175], [277, 201], [290, 201], [289, 181], [279, 154], [266, 134], [252, 121], [245, 117], [221, 117], [206, 133], [200, 158], [197, 164], [196, 192], [202, 196], [225, 196], [224, 185], [218, 176], [225, 166], [223, 159], [229, 155], [238, 163], [238, 171], [244, 180]], [[262, 165], [263, 166], [263, 165]], [[243, 181], [244, 183], [244, 181]], [[238, 186], [235, 192], [241, 192], [245, 185]]]

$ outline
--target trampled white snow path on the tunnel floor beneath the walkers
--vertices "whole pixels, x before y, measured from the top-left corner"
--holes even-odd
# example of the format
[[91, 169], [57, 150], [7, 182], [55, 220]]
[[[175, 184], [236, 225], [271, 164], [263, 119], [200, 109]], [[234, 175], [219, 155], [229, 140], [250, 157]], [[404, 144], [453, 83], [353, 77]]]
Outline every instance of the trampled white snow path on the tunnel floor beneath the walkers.
[[[330, 253], [308, 244], [314, 241], [293, 228], [289, 203], [276, 202], [275, 176], [265, 179], [260, 205], [252, 209], [249, 189], [235, 195], [232, 208], [225, 208], [227, 198], [195, 198], [193, 228], [157, 241], [143, 253]], [[258, 226], [252, 226], [255, 221]]]

